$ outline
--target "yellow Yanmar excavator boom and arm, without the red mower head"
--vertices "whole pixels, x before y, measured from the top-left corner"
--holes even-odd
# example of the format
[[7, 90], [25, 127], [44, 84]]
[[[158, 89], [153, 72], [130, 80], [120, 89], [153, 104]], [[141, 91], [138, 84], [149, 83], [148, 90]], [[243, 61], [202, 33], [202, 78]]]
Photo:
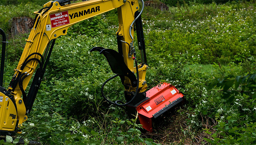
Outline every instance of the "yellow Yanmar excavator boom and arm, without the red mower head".
[[[104, 49], [106, 58], [111, 65], [113, 72], [120, 75], [127, 94], [136, 91], [136, 67], [134, 67], [133, 52], [133, 26], [134, 20], [138, 16], [139, 4], [137, 0], [90, 0], [70, 4], [68, 0], [49, 1], [44, 4], [36, 14], [33, 28], [29, 37], [25, 40], [26, 45], [19, 60], [19, 64], [14, 69], [12, 81], [5, 90], [0, 90], [0, 131], [1, 135], [13, 135], [22, 123], [27, 120], [26, 114], [30, 112], [35, 100], [45, 72], [46, 65], [55, 42], [55, 39], [61, 35], [66, 35], [68, 28], [82, 20], [89, 19], [99, 14], [118, 10], [119, 29], [116, 32], [118, 39], [119, 56], [112, 59], [107, 56], [108, 49], [96, 47], [91, 51]], [[137, 16], [135, 16], [137, 15]], [[133, 23], [133, 24], [132, 24]], [[132, 26], [130, 26], [132, 24]], [[86, 26], [85, 26], [86, 27]], [[144, 40], [143, 40], [144, 42]], [[143, 51], [141, 51], [143, 53]], [[116, 57], [114, 52], [112, 55]], [[142, 54], [143, 55], [143, 54]], [[116, 59], [121, 59], [125, 66], [123, 68], [114, 68]], [[120, 60], [119, 60], [120, 61]], [[37, 65], [39, 64], [39, 67]], [[146, 90], [145, 73], [148, 66], [140, 64], [138, 66], [139, 85], [138, 93]], [[33, 75], [34, 80], [28, 94], [25, 89]], [[124, 74], [126, 73], [126, 74]], [[129, 73], [129, 74], [128, 74]], [[118, 104], [118, 102], [117, 102]], [[18, 131], [18, 133], [20, 133]]]

